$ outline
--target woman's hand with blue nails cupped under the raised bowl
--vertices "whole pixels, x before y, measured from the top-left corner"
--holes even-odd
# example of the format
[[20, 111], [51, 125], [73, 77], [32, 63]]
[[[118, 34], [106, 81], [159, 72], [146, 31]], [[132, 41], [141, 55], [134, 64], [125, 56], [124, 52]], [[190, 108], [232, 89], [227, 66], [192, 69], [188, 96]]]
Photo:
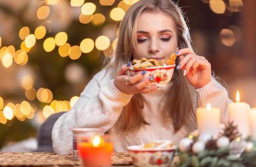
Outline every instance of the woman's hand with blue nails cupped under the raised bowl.
[[141, 73], [138, 73], [132, 77], [126, 75], [127, 70], [131, 66], [131, 62], [128, 64], [124, 64], [117, 71], [117, 75], [114, 79], [114, 84], [121, 92], [124, 92], [126, 94], [148, 93], [158, 88], [158, 84], [154, 84], [148, 88], [144, 88], [154, 79], [153, 77], [148, 77], [147, 79], [138, 82], [141, 78], [144, 77], [146, 71], [142, 71]]

